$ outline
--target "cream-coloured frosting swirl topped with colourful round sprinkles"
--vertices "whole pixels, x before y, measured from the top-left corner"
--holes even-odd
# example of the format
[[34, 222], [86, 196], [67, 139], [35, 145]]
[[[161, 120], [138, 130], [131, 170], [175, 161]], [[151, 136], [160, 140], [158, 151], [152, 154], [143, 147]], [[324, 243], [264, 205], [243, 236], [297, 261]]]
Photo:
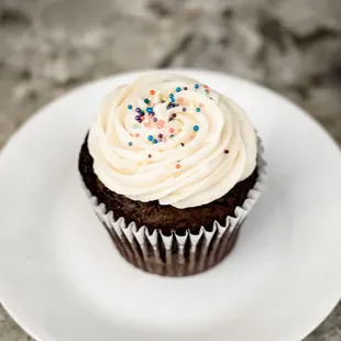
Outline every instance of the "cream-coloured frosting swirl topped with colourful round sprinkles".
[[211, 202], [256, 166], [256, 135], [231, 99], [182, 75], [152, 74], [107, 96], [90, 129], [94, 172], [133, 200]]

